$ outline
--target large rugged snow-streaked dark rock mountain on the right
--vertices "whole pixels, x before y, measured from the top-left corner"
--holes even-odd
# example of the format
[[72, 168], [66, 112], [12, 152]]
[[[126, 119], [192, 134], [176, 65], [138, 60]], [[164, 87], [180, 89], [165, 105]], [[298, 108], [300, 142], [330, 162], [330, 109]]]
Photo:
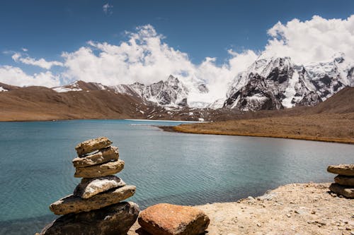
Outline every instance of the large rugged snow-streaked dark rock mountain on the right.
[[297, 66], [289, 57], [258, 59], [234, 79], [224, 107], [244, 111], [314, 106], [354, 85], [343, 54], [327, 63]]

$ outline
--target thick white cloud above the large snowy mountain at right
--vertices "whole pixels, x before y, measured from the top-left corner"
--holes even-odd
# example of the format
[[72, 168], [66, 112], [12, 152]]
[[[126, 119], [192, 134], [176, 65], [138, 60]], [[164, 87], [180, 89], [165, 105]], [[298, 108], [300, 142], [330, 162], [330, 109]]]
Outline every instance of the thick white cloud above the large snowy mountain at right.
[[344, 20], [313, 16], [306, 21], [278, 22], [268, 35], [263, 56], [290, 56], [299, 64], [329, 61], [338, 52], [354, 59], [354, 15]]

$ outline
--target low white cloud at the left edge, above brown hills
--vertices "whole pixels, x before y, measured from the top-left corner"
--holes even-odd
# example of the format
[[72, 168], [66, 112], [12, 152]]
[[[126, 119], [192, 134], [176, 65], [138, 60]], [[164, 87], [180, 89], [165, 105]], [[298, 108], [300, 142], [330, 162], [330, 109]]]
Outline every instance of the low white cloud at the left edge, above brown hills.
[[48, 88], [60, 84], [59, 76], [53, 75], [50, 71], [46, 71], [45, 73], [35, 73], [31, 76], [23, 72], [21, 68], [13, 66], [0, 66], [0, 82], [21, 87], [41, 85]]

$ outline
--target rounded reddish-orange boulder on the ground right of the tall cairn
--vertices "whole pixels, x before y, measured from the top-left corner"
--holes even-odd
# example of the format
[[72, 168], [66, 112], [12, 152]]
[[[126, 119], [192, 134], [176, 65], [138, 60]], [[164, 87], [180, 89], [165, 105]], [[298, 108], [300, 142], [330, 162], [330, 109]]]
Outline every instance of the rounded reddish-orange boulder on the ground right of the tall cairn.
[[143, 210], [138, 222], [154, 235], [197, 235], [207, 229], [210, 219], [195, 207], [161, 203]]

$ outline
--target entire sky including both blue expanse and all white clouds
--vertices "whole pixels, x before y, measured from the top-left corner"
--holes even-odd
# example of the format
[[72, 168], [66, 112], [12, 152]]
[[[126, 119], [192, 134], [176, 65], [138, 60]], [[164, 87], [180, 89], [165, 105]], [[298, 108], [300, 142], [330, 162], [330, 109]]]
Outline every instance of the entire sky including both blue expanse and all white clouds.
[[259, 56], [354, 59], [354, 1], [1, 1], [0, 82], [150, 84], [215, 92]]

